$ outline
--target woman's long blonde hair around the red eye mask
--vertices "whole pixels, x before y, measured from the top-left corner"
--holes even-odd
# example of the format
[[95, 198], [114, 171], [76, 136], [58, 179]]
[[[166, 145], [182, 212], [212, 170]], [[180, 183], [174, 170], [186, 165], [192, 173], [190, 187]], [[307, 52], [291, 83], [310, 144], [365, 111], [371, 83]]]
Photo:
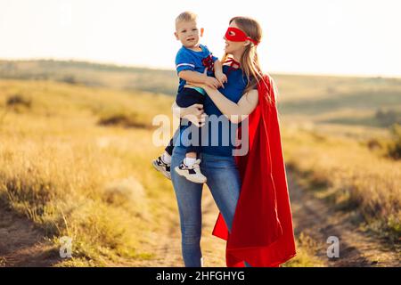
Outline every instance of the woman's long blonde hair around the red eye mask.
[[[262, 40], [262, 28], [260, 27], [257, 20], [253, 20], [248, 17], [233, 17], [230, 20], [230, 24], [235, 21], [235, 24], [240, 28], [248, 37], [260, 43]], [[224, 62], [229, 55], [225, 53], [222, 62]], [[245, 47], [245, 51], [241, 55], [240, 59], [242, 72], [248, 79], [248, 85], [245, 88], [244, 94], [252, 90], [258, 82], [262, 80], [263, 74], [260, 69], [260, 63], [258, 60], [257, 45], [250, 42], [250, 45]]]

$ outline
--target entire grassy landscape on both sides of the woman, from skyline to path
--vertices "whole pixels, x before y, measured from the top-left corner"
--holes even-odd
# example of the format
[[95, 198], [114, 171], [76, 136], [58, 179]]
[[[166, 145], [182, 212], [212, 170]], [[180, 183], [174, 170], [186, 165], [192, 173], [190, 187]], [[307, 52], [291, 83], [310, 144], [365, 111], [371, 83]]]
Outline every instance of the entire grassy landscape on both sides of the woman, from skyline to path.
[[[401, 162], [389, 149], [401, 144], [390, 132], [401, 123], [401, 79], [273, 77], [299, 182], [399, 246]], [[0, 61], [0, 78], [0, 198], [44, 229], [53, 250], [58, 237], [77, 240], [74, 258], [58, 265], [151, 259], [152, 232], [176, 211], [171, 183], [150, 166], [162, 149], [151, 119], [170, 113], [175, 73]], [[298, 238], [300, 248], [311, 243]], [[318, 264], [301, 249], [290, 265]]]

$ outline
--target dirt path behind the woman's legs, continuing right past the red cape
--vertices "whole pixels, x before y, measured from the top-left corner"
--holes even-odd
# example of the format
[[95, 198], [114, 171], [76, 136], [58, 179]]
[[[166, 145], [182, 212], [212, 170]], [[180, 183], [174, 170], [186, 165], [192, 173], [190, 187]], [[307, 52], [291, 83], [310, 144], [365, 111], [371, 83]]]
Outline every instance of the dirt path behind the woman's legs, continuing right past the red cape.
[[[348, 221], [344, 213], [335, 212], [312, 193], [296, 183], [294, 175], [288, 174], [291, 192], [294, 230], [298, 237], [301, 232], [315, 241], [315, 256], [326, 266], [400, 266], [397, 253], [385, 248], [381, 242], [361, 232]], [[202, 198], [202, 238], [201, 248], [204, 266], [225, 266], [225, 241], [211, 235], [217, 218], [217, 206], [207, 187]], [[170, 227], [167, 238], [154, 252], [160, 258], [143, 266], [183, 266], [181, 256], [181, 234], [178, 213], [168, 217]], [[328, 258], [326, 250], [330, 244], [326, 240], [336, 236], [340, 240], [340, 257]]]

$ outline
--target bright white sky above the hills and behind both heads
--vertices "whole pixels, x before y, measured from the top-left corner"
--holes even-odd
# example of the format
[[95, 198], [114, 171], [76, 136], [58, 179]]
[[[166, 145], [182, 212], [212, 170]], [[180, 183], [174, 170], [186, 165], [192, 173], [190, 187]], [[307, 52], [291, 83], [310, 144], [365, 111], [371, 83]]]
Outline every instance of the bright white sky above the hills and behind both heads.
[[233, 16], [258, 20], [266, 72], [401, 77], [400, 0], [0, 0], [0, 59], [174, 69], [184, 11], [219, 57]]

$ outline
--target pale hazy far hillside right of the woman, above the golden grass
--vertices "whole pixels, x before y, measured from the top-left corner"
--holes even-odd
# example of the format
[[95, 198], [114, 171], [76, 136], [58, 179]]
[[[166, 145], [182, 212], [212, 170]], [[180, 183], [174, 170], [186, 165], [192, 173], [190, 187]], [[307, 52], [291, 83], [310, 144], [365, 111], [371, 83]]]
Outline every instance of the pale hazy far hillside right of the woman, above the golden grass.
[[289, 121], [318, 125], [387, 127], [401, 123], [401, 79], [274, 77], [280, 110]]

